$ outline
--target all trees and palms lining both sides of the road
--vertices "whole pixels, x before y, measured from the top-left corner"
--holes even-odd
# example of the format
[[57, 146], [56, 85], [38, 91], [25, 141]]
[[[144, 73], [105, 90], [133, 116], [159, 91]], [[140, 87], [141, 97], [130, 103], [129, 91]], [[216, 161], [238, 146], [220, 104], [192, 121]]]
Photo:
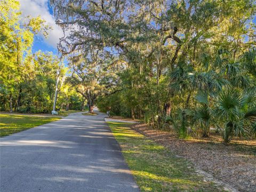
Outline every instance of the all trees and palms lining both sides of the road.
[[60, 79], [57, 109], [93, 113], [97, 103], [181, 139], [211, 129], [226, 145], [255, 139], [255, 0], [71, 2], [50, 1], [68, 31], [64, 65], [32, 53], [45, 21], [22, 20], [18, 1], [1, 1], [0, 110], [51, 113]]

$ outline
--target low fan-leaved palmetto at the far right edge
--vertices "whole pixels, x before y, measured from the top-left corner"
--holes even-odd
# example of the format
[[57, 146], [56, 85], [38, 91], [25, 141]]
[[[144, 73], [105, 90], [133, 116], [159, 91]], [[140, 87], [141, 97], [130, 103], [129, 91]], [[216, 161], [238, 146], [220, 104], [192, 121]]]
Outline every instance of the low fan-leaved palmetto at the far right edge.
[[215, 119], [226, 144], [239, 135], [252, 133], [256, 122], [255, 91], [223, 89], [217, 97]]

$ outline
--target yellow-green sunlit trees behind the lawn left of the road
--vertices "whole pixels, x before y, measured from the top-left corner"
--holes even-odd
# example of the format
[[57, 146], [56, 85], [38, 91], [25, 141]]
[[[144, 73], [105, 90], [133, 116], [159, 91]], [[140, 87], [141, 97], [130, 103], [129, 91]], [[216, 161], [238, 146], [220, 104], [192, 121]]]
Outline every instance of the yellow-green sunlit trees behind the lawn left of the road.
[[41, 17], [21, 18], [19, 2], [0, 1], [0, 110], [50, 113], [57, 71], [60, 83], [57, 108], [80, 109], [84, 99], [66, 82], [67, 68], [51, 52], [32, 53], [34, 35], [47, 36]]

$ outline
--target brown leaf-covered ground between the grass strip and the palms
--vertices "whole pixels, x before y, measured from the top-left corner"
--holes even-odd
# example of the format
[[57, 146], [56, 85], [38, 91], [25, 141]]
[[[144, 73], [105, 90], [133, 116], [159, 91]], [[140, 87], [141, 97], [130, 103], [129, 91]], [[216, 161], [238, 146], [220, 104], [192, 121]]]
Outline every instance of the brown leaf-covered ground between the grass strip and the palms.
[[236, 139], [225, 146], [219, 135], [181, 140], [173, 133], [153, 130], [146, 124], [133, 125], [132, 129], [189, 159], [199, 169], [238, 191], [256, 191], [256, 140]]

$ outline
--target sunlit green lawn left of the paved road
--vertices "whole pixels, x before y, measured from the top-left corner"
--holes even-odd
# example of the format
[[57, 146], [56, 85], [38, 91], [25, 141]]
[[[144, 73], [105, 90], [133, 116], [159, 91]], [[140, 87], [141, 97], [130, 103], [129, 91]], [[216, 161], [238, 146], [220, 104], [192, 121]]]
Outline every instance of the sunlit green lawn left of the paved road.
[[60, 117], [0, 114], [0, 137], [56, 121]]

